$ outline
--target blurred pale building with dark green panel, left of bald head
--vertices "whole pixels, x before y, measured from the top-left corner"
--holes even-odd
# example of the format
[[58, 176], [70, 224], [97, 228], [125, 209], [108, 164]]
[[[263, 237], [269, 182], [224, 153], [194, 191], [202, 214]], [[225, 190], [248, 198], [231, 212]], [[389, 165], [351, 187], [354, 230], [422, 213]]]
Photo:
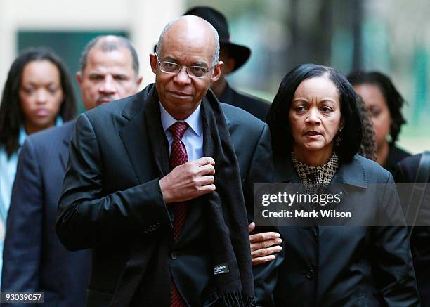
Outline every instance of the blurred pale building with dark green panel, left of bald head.
[[[148, 55], [164, 25], [184, 10], [183, 0], [1, 0], [0, 87], [16, 55], [29, 46], [52, 48], [74, 75], [82, 49], [100, 34], [124, 35], [133, 41], [143, 83], [149, 84], [154, 77]], [[74, 87], [77, 90], [76, 81]]]

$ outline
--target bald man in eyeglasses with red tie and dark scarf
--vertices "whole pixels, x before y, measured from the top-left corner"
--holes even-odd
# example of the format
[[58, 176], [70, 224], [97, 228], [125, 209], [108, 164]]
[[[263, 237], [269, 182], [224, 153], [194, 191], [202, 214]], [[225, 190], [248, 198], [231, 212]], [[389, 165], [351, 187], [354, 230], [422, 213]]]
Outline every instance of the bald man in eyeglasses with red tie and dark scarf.
[[[268, 182], [268, 126], [219, 103], [219, 37], [170, 22], [155, 84], [77, 120], [56, 230], [93, 248], [87, 306], [255, 306], [247, 213]], [[262, 171], [262, 170], [265, 171]]]

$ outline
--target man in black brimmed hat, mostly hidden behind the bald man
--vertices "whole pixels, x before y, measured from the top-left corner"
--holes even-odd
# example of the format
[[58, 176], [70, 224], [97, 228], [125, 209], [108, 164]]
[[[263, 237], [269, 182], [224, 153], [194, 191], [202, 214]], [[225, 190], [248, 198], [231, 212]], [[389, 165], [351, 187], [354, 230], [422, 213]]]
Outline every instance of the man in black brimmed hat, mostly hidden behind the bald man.
[[221, 44], [219, 60], [223, 61], [224, 66], [221, 70], [221, 77], [218, 81], [211, 84], [211, 89], [214, 91], [216, 98], [223, 103], [240, 107], [263, 121], [266, 120], [266, 115], [270, 107], [269, 103], [259, 98], [235, 91], [226, 80], [226, 75], [244, 65], [249, 55], [251, 55], [251, 50], [248, 47], [233, 44], [230, 41], [226, 17], [209, 6], [195, 6], [194, 8], [190, 8], [183, 15], [199, 16], [210, 22], [218, 32], [219, 42]]

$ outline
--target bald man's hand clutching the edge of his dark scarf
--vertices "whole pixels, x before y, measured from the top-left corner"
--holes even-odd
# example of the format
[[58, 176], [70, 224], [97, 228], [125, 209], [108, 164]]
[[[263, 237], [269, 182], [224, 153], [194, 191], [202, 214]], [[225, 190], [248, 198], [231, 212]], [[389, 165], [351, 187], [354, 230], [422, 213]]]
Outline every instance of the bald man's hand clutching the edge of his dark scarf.
[[159, 180], [164, 202], [185, 202], [214, 192], [214, 165], [214, 159], [202, 157], [176, 166]]

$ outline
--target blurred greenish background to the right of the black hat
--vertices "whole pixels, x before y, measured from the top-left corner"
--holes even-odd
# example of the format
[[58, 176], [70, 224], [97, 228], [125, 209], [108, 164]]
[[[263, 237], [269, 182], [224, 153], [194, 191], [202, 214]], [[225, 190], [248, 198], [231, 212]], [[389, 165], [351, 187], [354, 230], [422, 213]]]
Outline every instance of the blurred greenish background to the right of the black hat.
[[252, 49], [229, 77], [238, 89], [273, 100], [282, 77], [302, 63], [388, 74], [407, 101], [398, 144], [430, 150], [428, 0], [188, 0], [226, 14], [233, 40]]

